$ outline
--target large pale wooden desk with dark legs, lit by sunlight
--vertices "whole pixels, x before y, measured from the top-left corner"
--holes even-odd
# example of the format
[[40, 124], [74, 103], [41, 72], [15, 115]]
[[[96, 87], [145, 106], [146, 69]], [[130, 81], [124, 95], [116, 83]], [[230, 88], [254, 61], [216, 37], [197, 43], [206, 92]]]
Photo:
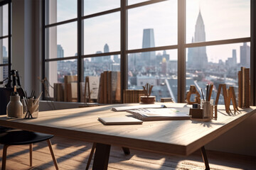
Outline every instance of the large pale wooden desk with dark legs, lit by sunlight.
[[[164, 104], [169, 107], [190, 108], [184, 103]], [[129, 105], [132, 104], [125, 104]], [[144, 122], [142, 125], [102, 125], [97, 120], [98, 117], [129, 115], [126, 112], [110, 111], [111, 107], [44, 111], [36, 119], [7, 119], [6, 115], [1, 115], [0, 125], [95, 142], [97, 145], [93, 169], [107, 169], [111, 145], [184, 156], [201, 148], [206, 169], [209, 169], [203, 146], [256, 112], [256, 107], [251, 107], [240, 109], [241, 113], [236, 115], [228, 115], [224, 106], [218, 106], [218, 119], [209, 122], [167, 120]]]

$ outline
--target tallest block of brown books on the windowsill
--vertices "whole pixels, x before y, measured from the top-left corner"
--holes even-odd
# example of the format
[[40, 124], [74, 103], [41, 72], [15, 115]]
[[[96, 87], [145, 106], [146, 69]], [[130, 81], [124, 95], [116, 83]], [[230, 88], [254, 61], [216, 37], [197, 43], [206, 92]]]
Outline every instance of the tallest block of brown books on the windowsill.
[[120, 72], [105, 71], [100, 74], [98, 103], [121, 103]]

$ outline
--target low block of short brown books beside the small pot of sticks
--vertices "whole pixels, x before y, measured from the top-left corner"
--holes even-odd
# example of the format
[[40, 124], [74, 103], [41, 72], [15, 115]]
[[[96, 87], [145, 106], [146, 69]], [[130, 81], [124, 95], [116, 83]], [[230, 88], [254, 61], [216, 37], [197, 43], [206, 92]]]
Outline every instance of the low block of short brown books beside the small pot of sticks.
[[139, 103], [141, 96], [145, 96], [143, 90], [126, 89], [123, 91], [123, 103]]

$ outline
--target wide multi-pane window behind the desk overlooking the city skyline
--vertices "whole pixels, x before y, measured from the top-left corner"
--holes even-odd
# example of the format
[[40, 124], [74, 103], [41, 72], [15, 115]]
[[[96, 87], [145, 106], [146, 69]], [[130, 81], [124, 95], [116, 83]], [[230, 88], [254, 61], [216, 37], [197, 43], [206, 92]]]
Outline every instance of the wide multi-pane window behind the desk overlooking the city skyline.
[[154, 85], [156, 101], [183, 102], [191, 85], [209, 83], [214, 97], [218, 84], [236, 89], [238, 70], [250, 67], [250, 0], [46, 0], [43, 8], [43, 77], [53, 86], [76, 76], [77, 96], [85, 77], [119, 71], [124, 89]]

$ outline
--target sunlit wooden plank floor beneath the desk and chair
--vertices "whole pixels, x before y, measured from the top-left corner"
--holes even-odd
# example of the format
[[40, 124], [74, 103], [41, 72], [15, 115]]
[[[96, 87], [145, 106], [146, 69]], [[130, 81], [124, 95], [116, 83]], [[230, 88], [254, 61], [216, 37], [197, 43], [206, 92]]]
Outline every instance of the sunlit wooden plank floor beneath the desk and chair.
[[[91, 143], [53, 137], [51, 140], [59, 169], [85, 169]], [[0, 146], [2, 154], [3, 146]], [[207, 151], [210, 169], [256, 169], [256, 157]], [[1, 159], [0, 159], [1, 160]], [[33, 145], [33, 166], [29, 166], [28, 145], [11, 146], [7, 151], [6, 169], [55, 169], [46, 142]], [[92, 164], [90, 165], [92, 169]], [[112, 147], [108, 169], [204, 169], [200, 152], [189, 157], [154, 154], [131, 149], [124, 155], [121, 147]]]

